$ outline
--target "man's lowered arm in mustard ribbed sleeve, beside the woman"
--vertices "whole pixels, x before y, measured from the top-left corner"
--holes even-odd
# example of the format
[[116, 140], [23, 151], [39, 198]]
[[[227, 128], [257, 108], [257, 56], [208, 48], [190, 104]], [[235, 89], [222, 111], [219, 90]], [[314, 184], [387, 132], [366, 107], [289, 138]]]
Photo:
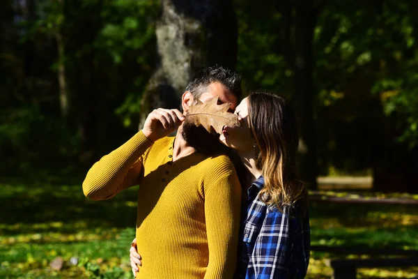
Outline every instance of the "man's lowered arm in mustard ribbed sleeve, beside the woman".
[[[241, 186], [230, 163], [229, 171], [205, 191], [205, 217], [209, 263], [205, 279], [233, 278], [240, 229]], [[211, 175], [210, 175], [211, 176]]]

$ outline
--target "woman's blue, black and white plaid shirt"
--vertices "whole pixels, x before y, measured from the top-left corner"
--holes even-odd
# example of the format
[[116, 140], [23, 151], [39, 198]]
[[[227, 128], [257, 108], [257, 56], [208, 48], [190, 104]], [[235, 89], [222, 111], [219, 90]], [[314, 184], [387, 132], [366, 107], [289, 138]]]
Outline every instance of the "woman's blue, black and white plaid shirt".
[[[261, 201], [264, 186], [260, 176], [248, 189], [246, 220], [241, 228], [242, 247], [238, 278], [304, 278], [309, 264], [309, 217], [293, 218]], [[295, 215], [293, 215], [295, 216]]]

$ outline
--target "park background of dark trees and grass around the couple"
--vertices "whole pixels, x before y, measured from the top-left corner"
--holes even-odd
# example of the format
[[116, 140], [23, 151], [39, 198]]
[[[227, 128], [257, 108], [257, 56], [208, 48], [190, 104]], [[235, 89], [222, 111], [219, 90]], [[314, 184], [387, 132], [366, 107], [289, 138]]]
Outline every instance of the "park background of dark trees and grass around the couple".
[[308, 278], [377, 257], [356, 249], [417, 250], [417, 15], [411, 0], [0, 1], [0, 278], [132, 278], [137, 188], [92, 202], [81, 183], [214, 64], [295, 107], [322, 247]]

